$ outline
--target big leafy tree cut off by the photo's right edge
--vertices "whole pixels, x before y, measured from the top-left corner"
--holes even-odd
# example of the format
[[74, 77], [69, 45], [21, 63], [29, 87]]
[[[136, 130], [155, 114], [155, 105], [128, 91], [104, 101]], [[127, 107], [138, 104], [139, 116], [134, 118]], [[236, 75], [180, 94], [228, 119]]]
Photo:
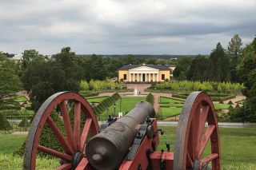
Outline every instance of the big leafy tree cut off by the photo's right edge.
[[256, 122], [256, 38], [242, 51], [242, 59], [238, 64], [238, 76], [243, 85], [242, 93], [246, 96], [243, 109], [249, 121]]

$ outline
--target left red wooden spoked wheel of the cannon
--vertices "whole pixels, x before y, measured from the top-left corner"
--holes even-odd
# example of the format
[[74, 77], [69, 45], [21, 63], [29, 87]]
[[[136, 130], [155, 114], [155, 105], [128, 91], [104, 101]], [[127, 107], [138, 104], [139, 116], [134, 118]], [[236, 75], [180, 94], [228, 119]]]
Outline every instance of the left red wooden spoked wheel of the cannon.
[[[73, 130], [70, 125], [70, 114], [66, 107], [66, 101], [74, 102]], [[50, 113], [52, 113], [57, 106], [59, 106], [62, 113], [66, 137], [50, 117]], [[86, 116], [83, 129], [80, 129], [81, 113], [84, 113]], [[46, 148], [38, 143], [42, 128], [46, 122], [54, 132], [54, 135], [57, 137], [65, 152], [58, 152], [51, 148]], [[94, 110], [90, 107], [90, 104], [84, 99], [84, 97], [71, 92], [55, 93], [42, 104], [40, 109], [38, 109], [38, 113], [36, 113], [34, 117], [29, 136], [26, 141], [23, 169], [35, 169], [37, 150], [64, 160], [64, 164], [60, 165], [58, 169], [75, 168], [85, 154], [84, 150], [89, 132], [93, 135], [98, 133], [98, 121], [95, 117]]]

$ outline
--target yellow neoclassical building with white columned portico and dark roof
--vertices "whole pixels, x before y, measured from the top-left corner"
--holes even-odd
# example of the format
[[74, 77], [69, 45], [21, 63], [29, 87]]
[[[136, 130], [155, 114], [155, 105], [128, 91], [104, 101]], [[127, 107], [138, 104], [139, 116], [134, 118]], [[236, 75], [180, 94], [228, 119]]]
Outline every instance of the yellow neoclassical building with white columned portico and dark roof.
[[158, 82], [170, 80], [175, 65], [125, 65], [118, 69], [118, 81]]

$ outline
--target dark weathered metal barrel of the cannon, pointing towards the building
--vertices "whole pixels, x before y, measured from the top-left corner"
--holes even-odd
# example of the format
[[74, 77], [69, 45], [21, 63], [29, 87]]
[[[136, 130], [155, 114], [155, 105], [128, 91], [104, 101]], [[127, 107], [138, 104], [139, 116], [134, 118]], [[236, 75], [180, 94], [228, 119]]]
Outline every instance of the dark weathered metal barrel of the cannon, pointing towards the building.
[[86, 144], [86, 158], [96, 169], [114, 169], [122, 163], [126, 152], [146, 117], [155, 116], [154, 107], [147, 101], [139, 102], [124, 117], [92, 137]]

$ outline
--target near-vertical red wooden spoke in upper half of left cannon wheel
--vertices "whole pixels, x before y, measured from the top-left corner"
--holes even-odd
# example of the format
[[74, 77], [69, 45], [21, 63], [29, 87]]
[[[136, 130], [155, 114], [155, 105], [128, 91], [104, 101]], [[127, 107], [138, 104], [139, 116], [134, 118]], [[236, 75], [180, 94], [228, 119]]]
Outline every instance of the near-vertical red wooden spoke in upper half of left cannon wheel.
[[76, 149], [80, 147], [81, 103], [74, 102], [74, 140]]

